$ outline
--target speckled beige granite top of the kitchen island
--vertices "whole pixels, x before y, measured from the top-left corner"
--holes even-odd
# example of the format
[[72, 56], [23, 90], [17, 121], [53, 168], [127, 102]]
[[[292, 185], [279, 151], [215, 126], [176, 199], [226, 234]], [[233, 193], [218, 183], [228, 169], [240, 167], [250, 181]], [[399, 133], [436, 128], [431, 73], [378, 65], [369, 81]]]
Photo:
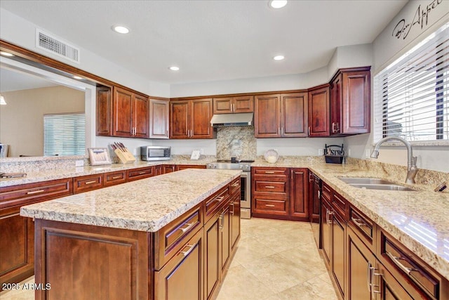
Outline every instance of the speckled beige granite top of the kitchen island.
[[20, 216], [156, 232], [240, 176], [185, 169], [20, 208]]

